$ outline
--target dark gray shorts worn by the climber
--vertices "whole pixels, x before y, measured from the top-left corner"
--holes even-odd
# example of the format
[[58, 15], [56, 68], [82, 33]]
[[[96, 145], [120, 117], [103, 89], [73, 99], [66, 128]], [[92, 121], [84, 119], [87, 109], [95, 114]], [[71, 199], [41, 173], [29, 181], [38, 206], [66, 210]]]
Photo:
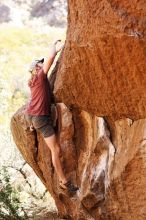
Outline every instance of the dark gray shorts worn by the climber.
[[29, 124], [32, 124], [37, 131], [42, 133], [44, 138], [55, 134], [50, 115], [25, 115], [25, 118]]

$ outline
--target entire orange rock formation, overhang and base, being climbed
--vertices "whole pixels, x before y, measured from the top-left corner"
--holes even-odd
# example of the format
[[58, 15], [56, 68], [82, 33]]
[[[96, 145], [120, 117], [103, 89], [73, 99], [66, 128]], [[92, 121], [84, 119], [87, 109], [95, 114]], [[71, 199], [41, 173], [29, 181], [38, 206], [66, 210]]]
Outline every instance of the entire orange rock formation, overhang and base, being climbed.
[[64, 172], [80, 187], [76, 196], [59, 190], [50, 151], [28, 130], [24, 107], [12, 118], [16, 145], [62, 217], [146, 218], [144, 12], [142, 0], [69, 1], [67, 40], [51, 83], [56, 75], [57, 137]]

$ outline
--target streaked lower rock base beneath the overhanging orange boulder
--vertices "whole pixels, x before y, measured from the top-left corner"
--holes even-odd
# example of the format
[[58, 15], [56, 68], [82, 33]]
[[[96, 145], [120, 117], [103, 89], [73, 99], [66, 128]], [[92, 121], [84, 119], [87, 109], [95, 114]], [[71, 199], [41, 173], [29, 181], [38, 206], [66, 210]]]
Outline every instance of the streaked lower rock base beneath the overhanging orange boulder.
[[39, 133], [28, 130], [23, 109], [12, 118], [14, 140], [55, 199], [61, 216], [145, 219], [146, 119], [105, 122], [74, 109], [74, 127], [71, 112], [58, 104], [62, 164], [66, 175], [80, 186], [78, 194], [70, 198], [59, 191], [50, 151]]

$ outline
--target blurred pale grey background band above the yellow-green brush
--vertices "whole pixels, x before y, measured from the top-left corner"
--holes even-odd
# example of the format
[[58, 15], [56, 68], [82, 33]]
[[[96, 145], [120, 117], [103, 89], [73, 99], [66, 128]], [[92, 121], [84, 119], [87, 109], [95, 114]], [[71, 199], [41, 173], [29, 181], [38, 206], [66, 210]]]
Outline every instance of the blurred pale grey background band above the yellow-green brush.
[[66, 8], [66, 0], [0, 0], [0, 23], [66, 27]]

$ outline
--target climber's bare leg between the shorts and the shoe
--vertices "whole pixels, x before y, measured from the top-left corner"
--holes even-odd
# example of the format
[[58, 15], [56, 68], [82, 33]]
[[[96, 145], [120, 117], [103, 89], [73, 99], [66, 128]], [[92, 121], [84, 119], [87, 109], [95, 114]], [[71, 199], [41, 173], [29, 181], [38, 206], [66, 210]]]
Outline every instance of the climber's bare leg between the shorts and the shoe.
[[52, 163], [53, 166], [56, 170], [56, 173], [59, 177], [59, 180], [63, 183], [67, 182], [67, 179], [64, 175], [62, 166], [61, 166], [61, 161], [60, 161], [60, 146], [57, 143], [57, 138], [56, 135], [53, 134], [50, 137], [44, 138], [47, 146], [51, 150], [51, 156], [52, 156]]

